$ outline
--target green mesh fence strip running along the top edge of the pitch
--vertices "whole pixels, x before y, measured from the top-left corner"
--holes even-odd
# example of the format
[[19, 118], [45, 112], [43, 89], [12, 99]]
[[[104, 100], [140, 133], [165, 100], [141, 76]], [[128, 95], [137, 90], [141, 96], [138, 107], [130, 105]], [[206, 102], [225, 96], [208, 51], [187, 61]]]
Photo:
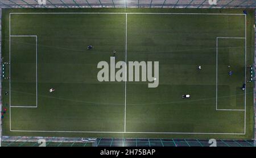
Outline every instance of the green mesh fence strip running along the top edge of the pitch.
[[[39, 5], [38, 1], [45, 1]], [[216, 5], [210, 5], [210, 2]], [[211, 3], [212, 4], [212, 3]], [[255, 0], [0, 0], [1, 8], [255, 8]]]

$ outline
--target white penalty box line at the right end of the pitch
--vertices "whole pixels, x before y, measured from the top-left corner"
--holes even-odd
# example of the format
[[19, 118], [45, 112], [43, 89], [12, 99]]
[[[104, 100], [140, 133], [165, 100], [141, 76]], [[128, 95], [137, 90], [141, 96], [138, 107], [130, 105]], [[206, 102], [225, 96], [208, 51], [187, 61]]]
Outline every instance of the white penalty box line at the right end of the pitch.
[[[246, 38], [232, 38], [232, 37], [217, 37], [216, 38], [216, 110], [217, 111], [245, 111], [245, 109], [218, 109], [218, 39], [246, 39]], [[245, 73], [246, 73], [246, 63], [245, 63]], [[245, 74], [246, 81], [246, 74]]]

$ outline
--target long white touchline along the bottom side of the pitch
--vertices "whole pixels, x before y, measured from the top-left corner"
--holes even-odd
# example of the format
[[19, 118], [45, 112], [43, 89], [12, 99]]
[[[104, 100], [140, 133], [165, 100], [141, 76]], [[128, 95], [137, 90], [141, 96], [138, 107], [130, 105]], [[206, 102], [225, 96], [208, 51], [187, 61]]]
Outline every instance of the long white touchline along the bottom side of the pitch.
[[204, 135], [245, 135], [243, 133], [203, 133], [203, 132], [101, 132], [101, 131], [24, 131], [11, 130], [12, 132], [66, 132], [66, 133], [112, 133], [112, 134], [204, 134]]

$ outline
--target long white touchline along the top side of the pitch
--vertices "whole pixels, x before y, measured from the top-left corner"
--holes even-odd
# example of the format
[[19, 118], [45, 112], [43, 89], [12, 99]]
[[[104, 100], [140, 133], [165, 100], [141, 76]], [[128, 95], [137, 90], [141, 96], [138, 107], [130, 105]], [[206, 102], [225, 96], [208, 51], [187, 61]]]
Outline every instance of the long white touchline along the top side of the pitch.
[[46, 12], [42, 12], [42, 13], [10, 13], [10, 14], [166, 14], [166, 15], [245, 15], [245, 14], [218, 14], [218, 13], [99, 13], [99, 12], [95, 12], [95, 13], [79, 13], [79, 12], [71, 12], [71, 13], [46, 13]]

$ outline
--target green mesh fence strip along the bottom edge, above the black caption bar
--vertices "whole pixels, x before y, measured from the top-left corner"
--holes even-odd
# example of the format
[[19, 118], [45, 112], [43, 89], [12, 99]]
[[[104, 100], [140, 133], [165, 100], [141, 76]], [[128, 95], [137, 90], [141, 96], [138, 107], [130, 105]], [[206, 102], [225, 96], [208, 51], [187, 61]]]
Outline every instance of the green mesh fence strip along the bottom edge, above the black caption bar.
[[[3, 147], [38, 147], [39, 139], [46, 140], [47, 147], [209, 147], [209, 140], [203, 139], [122, 139], [97, 138], [83, 142], [82, 138], [43, 138], [25, 136], [3, 136]], [[253, 147], [253, 140], [216, 140], [219, 147]]]

